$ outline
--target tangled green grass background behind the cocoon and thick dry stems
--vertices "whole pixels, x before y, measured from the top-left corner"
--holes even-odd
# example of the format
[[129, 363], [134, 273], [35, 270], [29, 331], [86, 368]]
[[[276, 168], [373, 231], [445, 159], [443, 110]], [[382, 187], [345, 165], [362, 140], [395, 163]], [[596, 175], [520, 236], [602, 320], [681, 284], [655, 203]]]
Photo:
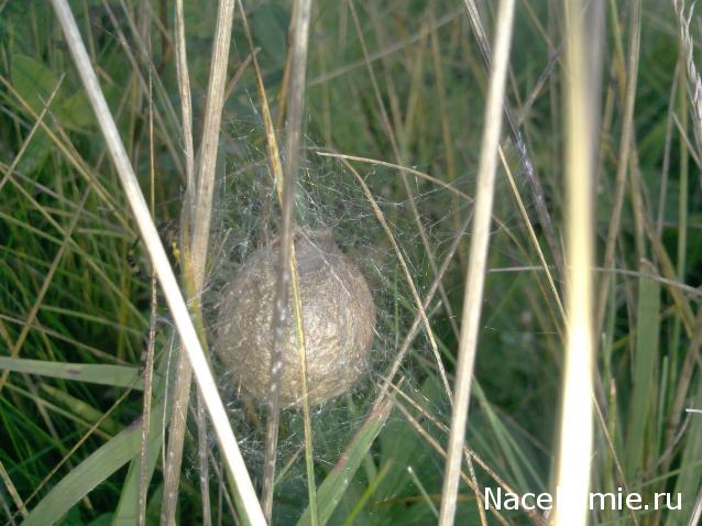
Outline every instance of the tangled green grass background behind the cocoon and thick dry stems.
[[[182, 272], [186, 145], [174, 3], [70, 6]], [[496, 2], [478, 3], [492, 41]], [[689, 53], [694, 59], [702, 52], [695, 18], [681, 43], [676, 6], [604, 2], [591, 485], [636, 492], [645, 503], [668, 492], [674, 505], [680, 494], [681, 509], [597, 509], [591, 524], [682, 525], [702, 506], [702, 414], [687, 412], [702, 409], [701, 121], [690, 95], [695, 73], [687, 65]], [[290, 8], [268, 0], [244, 8], [284, 145]], [[196, 149], [206, 131], [216, 17], [217, 2], [185, 2]], [[566, 347], [564, 20], [561, 2], [516, 7], [506, 100], [526, 150], [515, 149], [503, 127], [465, 442], [474, 473], [464, 462], [457, 524], [542, 524], [540, 512], [481, 513], [476, 498], [490, 487], [539, 493], [555, 483]], [[238, 8], [231, 42], [207, 277], [197, 295], [202, 310], [195, 309], [210, 343], [228, 276], [281, 230], [264, 101]], [[473, 212], [489, 83], [461, 2], [314, 2], [295, 220], [332, 228], [371, 283], [379, 313], [368, 377], [309, 415], [318, 524], [437, 520], [451, 425], [442, 369], [452, 386], [471, 242], [465, 220]], [[149, 482], [145, 523], [156, 524], [178, 344], [163, 297], [152, 305], [138, 224], [47, 2], [0, 2], [0, 109], [2, 524], [135, 524], [142, 481]], [[525, 156], [541, 196], [529, 184]], [[418, 330], [413, 289], [423, 302], [432, 296], [428, 325], [419, 322]], [[155, 375], [145, 384], [150, 347]], [[405, 348], [386, 397], [386, 373]], [[216, 357], [212, 366], [259, 490], [266, 413], [241, 396]], [[147, 443], [135, 424], [145, 385], [153, 387]], [[206, 508], [215, 524], [239, 524], [241, 504], [217, 439], [208, 425], [198, 431], [190, 399], [176, 481], [178, 524], [206, 523]], [[281, 415], [275, 524], [314, 524], [303, 413]], [[205, 459], [198, 440], [209, 451]]]

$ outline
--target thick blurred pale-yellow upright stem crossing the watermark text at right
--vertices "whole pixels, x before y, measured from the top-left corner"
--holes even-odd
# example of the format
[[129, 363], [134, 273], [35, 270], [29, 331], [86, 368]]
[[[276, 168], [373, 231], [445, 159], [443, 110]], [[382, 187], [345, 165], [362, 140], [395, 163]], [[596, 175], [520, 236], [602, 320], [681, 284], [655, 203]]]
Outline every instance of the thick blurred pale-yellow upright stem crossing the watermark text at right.
[[[567, 43], [567, 352], [553, 524], [585, 525], [589, 517], [593, 431], [593, 195], [597, 130], [597, 58], [603, 11], [584, 2], [564, 3]], [[586, 28], [586, 30], [585, 30]], [[585, 31], [588, 33], [585, 33]]]

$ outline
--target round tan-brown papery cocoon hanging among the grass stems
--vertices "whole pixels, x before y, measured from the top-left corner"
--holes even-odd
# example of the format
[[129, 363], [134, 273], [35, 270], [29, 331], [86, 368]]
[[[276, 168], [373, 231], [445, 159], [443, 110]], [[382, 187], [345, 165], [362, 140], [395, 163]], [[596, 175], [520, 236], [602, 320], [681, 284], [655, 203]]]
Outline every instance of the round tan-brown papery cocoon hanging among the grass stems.
[[[309, 404], [349, 391], [366, 372], [375, 328], [375, 306], [359, 267], [330, 232], [295, 239], [303, 307]], [[253, 252], [237, 270], [219, 308], [216, 350], [234, 380], [256, 399], [268, 394], [273, 349], [273, 302], [278, 242]], [[295, 315], [290, 300], [285, 325], [281, 401], [303, 398]]]

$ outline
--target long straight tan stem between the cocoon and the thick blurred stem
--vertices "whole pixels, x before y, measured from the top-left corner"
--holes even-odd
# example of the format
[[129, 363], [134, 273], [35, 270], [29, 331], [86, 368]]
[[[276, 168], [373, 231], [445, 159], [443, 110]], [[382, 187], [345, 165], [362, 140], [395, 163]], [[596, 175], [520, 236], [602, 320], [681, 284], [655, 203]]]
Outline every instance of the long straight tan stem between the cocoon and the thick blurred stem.
[[468, 264], [468, 283], [463, 297], [461, 338], [459, 340], [456, 369], [454, 404], [451, 413], [451, 432], [447, 446], [446, 472], [441, 497], [439, 524], [453, 524], [458, 494], [461, 458], [468, 421], [473, 365], [480, 332], [480, 315], [487, 263], [487, 241], [497, 169], [497, 146], [502, 129], [502, 108], [507, 79], [514, 0], [502, 0], [497, 11], [495, 31], [495, 56], [490, 76], [490, 88], [485, 108], [483, 139], [478, 168], [475, 220]]

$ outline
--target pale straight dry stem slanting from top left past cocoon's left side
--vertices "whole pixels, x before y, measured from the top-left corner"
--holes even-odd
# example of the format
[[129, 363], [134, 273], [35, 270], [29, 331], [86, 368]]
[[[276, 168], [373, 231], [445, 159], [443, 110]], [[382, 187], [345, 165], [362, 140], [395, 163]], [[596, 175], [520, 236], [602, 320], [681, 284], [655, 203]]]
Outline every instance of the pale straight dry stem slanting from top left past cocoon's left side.
[[237, 438], [229, 425], [227, 412], [217, 392], [217, 385], [202, 351], [202, 346], [189, 317], [188, 308], [178, 288], [178, 283], [168, 263], [166, 252], [158, 238], [156, 227], [151, 218], [149, 207], [144, 201], [144, 196], [139, 187], [132, 165], [124, 151], [117, 125], [90, 64], [76, 21], [66, 0], [52, 0], [52, 3], [66, 35], [66, 41], [86, 87], [92, 109], [96, 112], [98, 123], [106, 139], [129, 205], [139, 224], [152, 265], [156, 271], [158, 282], [171, 308], [183, 347], [188, 354], [197, 382], [202, 390], [202, 396], [210, 413], [228, 468], [237, 482], [237, 491], [243, 504], [242, 512], [252, 524], [263, 525], [265, 524], [263, 512], [249, 478]]

